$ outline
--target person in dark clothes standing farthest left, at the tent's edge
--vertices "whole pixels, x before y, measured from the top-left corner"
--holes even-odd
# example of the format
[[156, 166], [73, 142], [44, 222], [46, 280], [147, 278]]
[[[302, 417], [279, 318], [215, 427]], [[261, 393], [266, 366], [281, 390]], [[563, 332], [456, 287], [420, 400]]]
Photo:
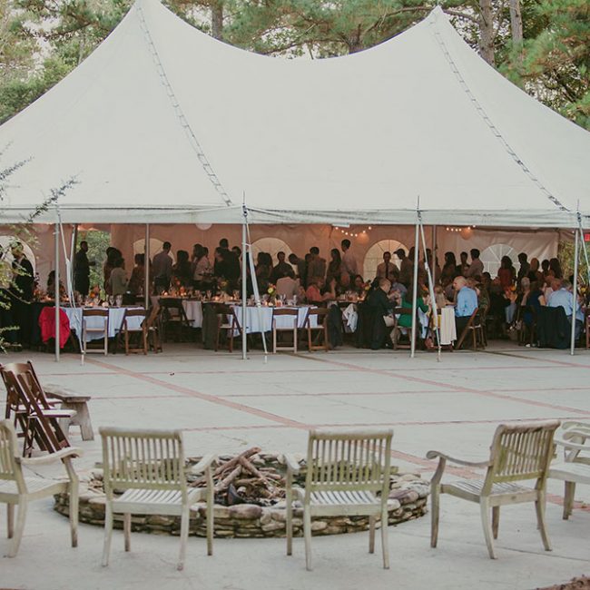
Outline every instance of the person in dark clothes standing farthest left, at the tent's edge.
[[30, 342], [32, 330], [30, 305], [34, 291], [33, 265], [26, 258], [23, 244], [20, 241], [13, 244], [11, 251], [14, 260], [10, 291], [13, 318], [18, 326], [16, 342], [26, 346]]

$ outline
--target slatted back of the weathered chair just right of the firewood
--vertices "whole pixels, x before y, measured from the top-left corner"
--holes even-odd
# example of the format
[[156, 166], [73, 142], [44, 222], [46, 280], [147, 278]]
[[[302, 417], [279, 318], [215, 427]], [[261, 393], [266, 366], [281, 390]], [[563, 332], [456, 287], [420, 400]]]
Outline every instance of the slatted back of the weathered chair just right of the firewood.
[[393, 431], [311, 430], [306, 495], [321, 491], [381, 491], [389, 486]]

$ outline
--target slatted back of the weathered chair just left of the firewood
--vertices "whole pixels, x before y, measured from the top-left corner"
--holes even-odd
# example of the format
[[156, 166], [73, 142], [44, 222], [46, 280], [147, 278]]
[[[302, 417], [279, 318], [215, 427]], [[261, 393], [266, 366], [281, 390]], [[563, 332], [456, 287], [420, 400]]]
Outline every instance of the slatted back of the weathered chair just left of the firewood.
[[180, 490], [186, 496], [180, 430], [99, 428], [103, 439], [103, 480], [113, 489]]

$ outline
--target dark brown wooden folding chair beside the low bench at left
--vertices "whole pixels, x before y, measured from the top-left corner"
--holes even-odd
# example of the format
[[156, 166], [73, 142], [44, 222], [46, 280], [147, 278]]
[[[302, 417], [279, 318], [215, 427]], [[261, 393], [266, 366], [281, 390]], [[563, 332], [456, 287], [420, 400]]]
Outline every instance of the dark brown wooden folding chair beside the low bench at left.
[[44, 394], [32, 363], [0, 365], [6, 388], [5, 418], [13, 420], [24, 438], [23, 456], [30, 455], [34, 442], [41, 450], [54, 453], [70, 443], [60, 427], [60, 419], [74, 418], [72, 409], [55, 408], [57, 402]]

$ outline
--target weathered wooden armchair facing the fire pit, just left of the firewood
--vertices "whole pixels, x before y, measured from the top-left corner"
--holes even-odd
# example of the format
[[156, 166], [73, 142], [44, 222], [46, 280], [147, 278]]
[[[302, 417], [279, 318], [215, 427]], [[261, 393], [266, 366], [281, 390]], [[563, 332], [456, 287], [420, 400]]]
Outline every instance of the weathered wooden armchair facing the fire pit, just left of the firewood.
[[[131, 516], [181, 516], [181, 553], [184, 566], [191, 506], [207, 502], [207, 554], [213, 554], [212, 455], [202, 457], [192, 473], [203, 473], [207, 487], [188, 487], [180, 430], [99, 428], [103, 438], [103, 482], [106, 495], [103, 565], [108, 565], [113, 535], [113, 513], [123, 514], [125, 551], [131, 549]], [[123, 491], [115, 496], [115, 491]]]

